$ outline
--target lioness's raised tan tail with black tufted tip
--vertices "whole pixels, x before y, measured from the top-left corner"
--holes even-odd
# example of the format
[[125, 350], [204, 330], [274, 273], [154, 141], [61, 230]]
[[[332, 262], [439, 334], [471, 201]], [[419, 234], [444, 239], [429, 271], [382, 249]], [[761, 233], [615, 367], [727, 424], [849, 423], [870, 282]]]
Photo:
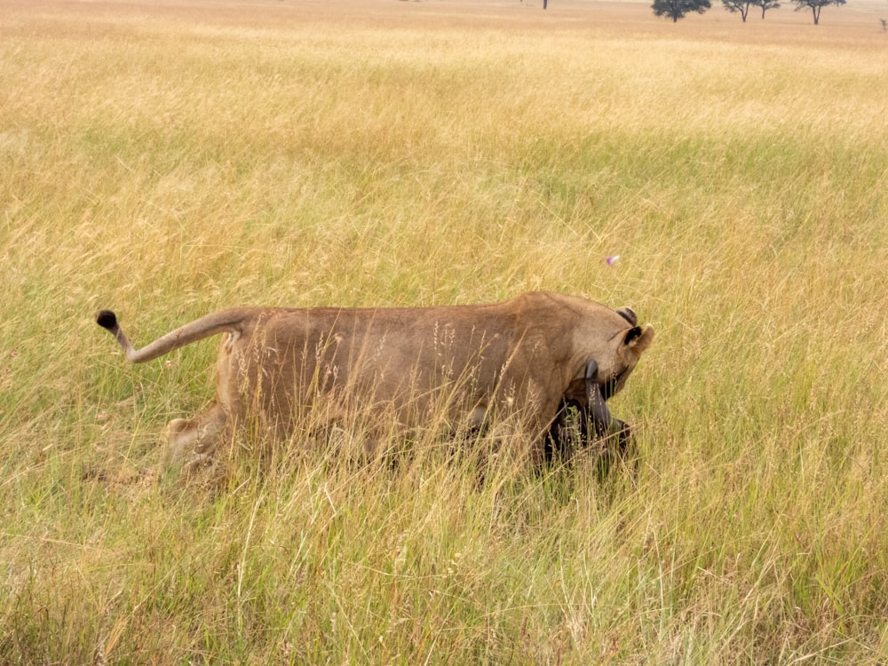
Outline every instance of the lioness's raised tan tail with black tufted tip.
[[131, 363], [144, 363], [152, 361], [174, 349], [190, 345], [204, 337], [212, 337], [224, 331], [240, 333], [243, 324], [255, 318], [254, 308], [234, 308], [218, 313], [207, 314], [200, 319], [187, 323], [176, 330], [170, 331], [163, 337], [158, 337], [154, 342], [145, 345], [141, 349], [135, 349], [130, 341], [123, 335], [123, 330], [117, 323], [117, 315], [110, 310], [102, 310], [96, 315], [96, 323], [103, 329], [107, 329], [123, 347], [126, 360]]

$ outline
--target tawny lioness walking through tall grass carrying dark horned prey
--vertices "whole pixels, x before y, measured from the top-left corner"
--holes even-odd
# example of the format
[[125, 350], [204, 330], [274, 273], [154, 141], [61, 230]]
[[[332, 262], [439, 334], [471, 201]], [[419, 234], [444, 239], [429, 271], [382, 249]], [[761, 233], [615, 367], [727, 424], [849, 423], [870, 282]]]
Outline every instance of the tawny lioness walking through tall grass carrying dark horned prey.
[[216, 400], [169, 425], [172, 456], [190, 452], [189, 466], [209, 462], [218, 443], [247, 424], [283, 439], [308, 412], [333, 424], [355, 408], [405, 428], [440, 418], [441, 409], [454, 429], [509, 424], [539, 463], [546, 432], [567, 404], [588, 413], [599, 433], [626, 429], [605, 401], [654, 339], [630, 308], [545, 291], [489, 305], [234, 308], [139, 350], [115, 313], [103, 310], [96, 321], [133, 363], [223, 334]]

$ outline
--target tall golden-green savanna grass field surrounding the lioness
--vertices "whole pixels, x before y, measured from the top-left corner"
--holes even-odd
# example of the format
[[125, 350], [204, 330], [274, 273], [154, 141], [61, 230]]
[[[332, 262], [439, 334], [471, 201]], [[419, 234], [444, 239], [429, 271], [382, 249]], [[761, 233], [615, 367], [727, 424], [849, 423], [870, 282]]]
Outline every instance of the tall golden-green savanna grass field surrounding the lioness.
[[[888, 9], [539, 5], [0, 5], [0, 663], [888, 661]], [[656, 327], [635, 472], [158, 486], [216, 344], [93, 322], [527, 289]]]

